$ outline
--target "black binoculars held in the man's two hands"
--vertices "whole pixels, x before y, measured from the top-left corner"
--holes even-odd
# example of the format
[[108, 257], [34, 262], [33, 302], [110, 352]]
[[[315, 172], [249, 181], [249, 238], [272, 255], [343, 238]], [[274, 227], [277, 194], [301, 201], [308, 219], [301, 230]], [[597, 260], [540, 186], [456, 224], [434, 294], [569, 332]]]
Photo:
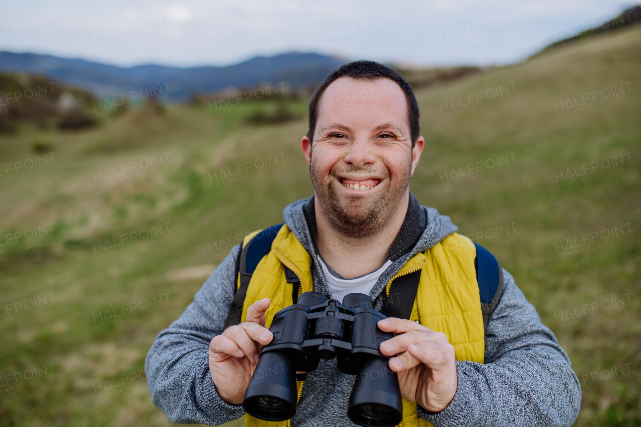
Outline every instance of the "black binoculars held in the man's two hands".
[[337, 358], [338, 371], [356, 375], [347, 417], [360, 426], [392, 427], [401, 422], [403, 402], [389, 357], [378, 349], [394, 337], [379, 330], [386, 319], [365, 294], [347, 294], [343, 303], [319, 292], [304, 292], [297, 304], [274, 315], [274, 339], [263, 347], [249, 382], [243, 406], [265, 421], [296, 415], [296, 371], [317, 369], [320, 359]]

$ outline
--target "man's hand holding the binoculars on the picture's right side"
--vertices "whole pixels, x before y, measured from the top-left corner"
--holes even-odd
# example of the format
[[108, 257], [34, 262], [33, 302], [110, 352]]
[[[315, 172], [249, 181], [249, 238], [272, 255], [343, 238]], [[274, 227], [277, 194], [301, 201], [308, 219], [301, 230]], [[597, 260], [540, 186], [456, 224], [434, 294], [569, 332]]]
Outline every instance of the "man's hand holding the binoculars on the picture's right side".
[[399, 376], [401, 396], [429, 412], [447, 408], [458, 380], [454, 347], [445, 334], [395, 317], [379, 321], [378, 327], [399, 334], [379, 349], [385, 356], [398, 355], [390, 359], [389, 367]]

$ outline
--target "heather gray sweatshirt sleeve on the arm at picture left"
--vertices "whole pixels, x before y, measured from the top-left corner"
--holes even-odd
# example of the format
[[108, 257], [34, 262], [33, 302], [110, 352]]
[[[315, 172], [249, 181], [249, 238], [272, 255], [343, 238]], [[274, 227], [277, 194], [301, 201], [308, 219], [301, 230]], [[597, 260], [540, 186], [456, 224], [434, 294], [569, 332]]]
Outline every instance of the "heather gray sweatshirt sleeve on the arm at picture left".
[[156, 337], [145, 360], [151, 401], [174, 423], [211, 426], [245, 414], [223, 401], [209, 369], [209, 343], [220, 335], [233, 299], [240, 245], [205, 281], [181, 317]]

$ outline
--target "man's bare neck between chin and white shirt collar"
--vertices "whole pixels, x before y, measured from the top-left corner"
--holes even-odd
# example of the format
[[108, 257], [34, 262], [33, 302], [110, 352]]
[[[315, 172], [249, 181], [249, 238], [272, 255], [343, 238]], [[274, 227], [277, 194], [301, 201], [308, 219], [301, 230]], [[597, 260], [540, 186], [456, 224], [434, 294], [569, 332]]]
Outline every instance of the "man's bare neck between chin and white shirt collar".
[[334, 228], [315, 203], [317, 243], [320, 254], [331, 268], [345, 278], [356, 278], [381, 267], [387, 258], [408, 210], [409, 191], [390, 220], [374, 233], [345, 236]]

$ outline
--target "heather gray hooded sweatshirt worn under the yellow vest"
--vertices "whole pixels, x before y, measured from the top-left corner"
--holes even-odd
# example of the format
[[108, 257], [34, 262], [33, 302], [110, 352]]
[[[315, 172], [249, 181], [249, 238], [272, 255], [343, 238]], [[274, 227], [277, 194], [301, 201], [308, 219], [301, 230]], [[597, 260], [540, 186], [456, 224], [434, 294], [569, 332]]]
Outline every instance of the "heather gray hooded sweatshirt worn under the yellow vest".
[[[313, 286], [329, 295], [317, 261], [313, 196], [285, 208], [283, 217], [312, 256]], [[271, 224], [267, 224], [268, 226]], [[311, 230], [311, 231], [310, 231]], [[410, 204], [388, 259], [392, 264], [370, 292], [383, 306], [383, 287], [412, 256], [458, 230], [449, 217]], [[217, 393], [209, 369], [209, 343], [223, 331], [235, 290], [236, 246], [196, 293], [185, 313], [156, 337], [145, 361], [151, 400], [174, 423], [219, 425], [242, 417]], [[570, 360], [545, 327], [512, 276], [503, 270], [504, 290], [485, 333], [485, 364], [456, 362], [458, 389], [442, 412], [417, 406], [420, 418], [440, 426], [571, 426], [579, 413], [581, 387]], [[321, 360], [307, 374], [292, 426], [356, 426], [347, 418], [354, 376], [336, 360]]]

